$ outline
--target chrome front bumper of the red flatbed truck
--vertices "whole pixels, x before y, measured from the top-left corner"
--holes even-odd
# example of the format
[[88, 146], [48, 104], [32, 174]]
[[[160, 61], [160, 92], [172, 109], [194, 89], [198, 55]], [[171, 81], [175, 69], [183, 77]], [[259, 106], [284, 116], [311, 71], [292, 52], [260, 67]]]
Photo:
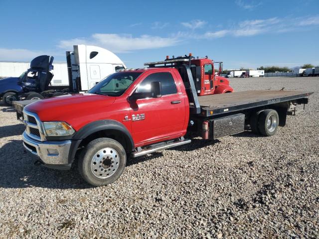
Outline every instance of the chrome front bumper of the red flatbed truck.
[[71, 140], [36, 141], [24, 131], [23, 146], [33, 155], [38, 156], [44, 164], [68, 164]]

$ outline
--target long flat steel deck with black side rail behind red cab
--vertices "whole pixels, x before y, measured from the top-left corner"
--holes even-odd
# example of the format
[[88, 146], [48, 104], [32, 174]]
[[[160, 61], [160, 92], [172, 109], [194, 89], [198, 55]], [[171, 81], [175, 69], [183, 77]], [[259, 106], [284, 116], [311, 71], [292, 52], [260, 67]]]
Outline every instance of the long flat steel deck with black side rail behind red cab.
[[198, 96], [201, 115], [210, 117], [224, 113], [243, 111], [256, 107], [273, 105], [281, 102], [306, 99], [307, 104], [312, 93], [300, 91], [242, 91], [226, 94]]

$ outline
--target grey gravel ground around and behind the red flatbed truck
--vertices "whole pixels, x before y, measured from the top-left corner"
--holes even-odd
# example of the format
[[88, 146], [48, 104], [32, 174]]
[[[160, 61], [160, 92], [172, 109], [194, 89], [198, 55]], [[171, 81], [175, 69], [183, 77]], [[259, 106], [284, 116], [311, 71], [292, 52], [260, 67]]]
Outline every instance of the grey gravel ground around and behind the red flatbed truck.
[[23, 124], [0, 106], [0, 238], [319, 238], [319, 78], [230, 82], [316, 93], [272, 137], [194, 138], [99, 188], [34, 166]]

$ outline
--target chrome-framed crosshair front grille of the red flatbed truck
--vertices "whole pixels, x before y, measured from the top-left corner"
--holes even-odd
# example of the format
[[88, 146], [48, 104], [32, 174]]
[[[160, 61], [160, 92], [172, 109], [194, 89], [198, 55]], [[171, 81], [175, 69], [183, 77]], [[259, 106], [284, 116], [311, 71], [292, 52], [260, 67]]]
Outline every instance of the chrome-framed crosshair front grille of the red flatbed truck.
[[38, 141], [44, 141], [45, 135], [39, 117], [32, 112], [23, 111], [23, 118], [24, 123], [26, 124], [26, 134]]

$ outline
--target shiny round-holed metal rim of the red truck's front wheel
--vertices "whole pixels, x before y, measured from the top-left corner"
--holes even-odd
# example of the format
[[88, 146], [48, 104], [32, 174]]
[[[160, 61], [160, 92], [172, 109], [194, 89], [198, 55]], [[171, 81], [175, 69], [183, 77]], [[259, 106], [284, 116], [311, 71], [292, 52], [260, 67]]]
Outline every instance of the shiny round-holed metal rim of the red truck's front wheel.
[[97, 178], [105, 179], [115, 174], [119, 165], [119, 153], [114, 148], [103, 148], [92, 157], [91, 171]]

